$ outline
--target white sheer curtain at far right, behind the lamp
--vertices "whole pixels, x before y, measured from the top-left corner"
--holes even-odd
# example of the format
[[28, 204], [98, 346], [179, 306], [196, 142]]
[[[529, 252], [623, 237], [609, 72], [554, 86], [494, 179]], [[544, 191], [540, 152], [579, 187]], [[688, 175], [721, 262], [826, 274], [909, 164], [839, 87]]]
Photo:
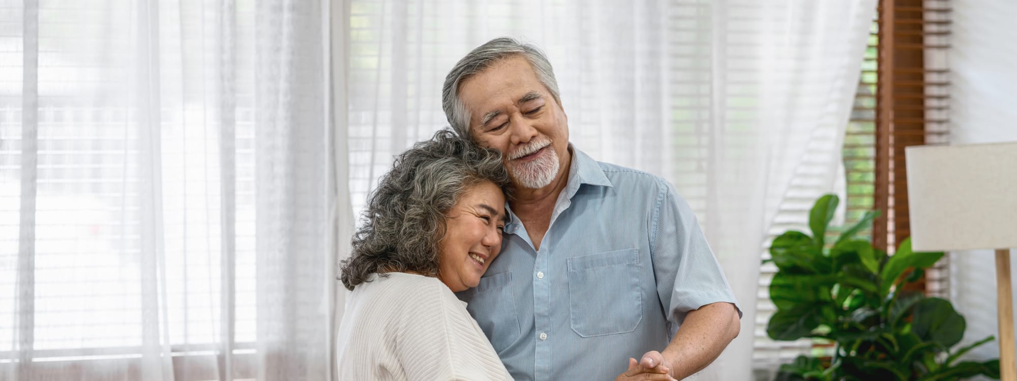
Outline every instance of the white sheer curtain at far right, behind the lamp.
[[[1010, 16], [1017, 14], [1017, 3], [957, 0], [951, 5], [950, 141], [1017, 141], [1017, 109], [1013, 107], [1017, 49], [1012, 43], [1017, 31]], [[990, 335], [999, 339], [993, 257], [992, 250], [950, 253], [950, 299], [967, 320], [961, 345]], [[1011, 271], [1017, 271], [1013, 264]], [[967, 357], [984, 361], [999, 356], [999, 341], [993, 341]]]

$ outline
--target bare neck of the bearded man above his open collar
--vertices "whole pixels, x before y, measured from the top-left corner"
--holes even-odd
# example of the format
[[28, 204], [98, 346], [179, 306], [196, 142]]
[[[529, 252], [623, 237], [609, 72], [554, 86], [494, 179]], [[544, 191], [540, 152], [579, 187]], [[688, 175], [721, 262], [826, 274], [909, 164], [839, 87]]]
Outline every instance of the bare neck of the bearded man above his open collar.
[[564, 171], [558, 172], [550, 184], [542, 188], [527, 189], [517, 187], [515, 199], [510, 203], [516, 216], [526, 227], [526, 232], [533, 242], [533, 247], [540, 250], [540, 242], [551, 225], [551, 213], [558, 195], [569, 185], [569, 173], [572, 171], [573, 152], [570, 150], [560, 163]]

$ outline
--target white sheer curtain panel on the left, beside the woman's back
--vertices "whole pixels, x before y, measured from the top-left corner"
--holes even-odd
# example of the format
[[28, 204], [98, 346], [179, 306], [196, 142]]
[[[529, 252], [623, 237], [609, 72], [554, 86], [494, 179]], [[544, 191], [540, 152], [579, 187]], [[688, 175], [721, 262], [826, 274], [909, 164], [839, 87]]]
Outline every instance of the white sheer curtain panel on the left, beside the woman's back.
[[0, 1], [0, 380], [328, 377], [328, 14]]

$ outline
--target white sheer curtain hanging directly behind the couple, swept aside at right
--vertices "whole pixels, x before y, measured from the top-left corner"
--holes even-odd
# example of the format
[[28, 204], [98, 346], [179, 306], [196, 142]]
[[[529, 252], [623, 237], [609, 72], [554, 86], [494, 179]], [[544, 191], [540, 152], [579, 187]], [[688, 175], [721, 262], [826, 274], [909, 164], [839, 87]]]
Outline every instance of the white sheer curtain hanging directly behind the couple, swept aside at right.
[[498, 36], [536, 43], [554, 65], [576, 146], [663, 176], [696, 210], [744, 312], [739, 337], [702, 375], [750, 379], [754, 333], [765, 335], [756, 315], [765, 241], [801, 225], [834, 189], [875, 9], [875, 0], [353, 0], [354, 209], [395, 153], [447, 124], [441, 82], [459, 58]]

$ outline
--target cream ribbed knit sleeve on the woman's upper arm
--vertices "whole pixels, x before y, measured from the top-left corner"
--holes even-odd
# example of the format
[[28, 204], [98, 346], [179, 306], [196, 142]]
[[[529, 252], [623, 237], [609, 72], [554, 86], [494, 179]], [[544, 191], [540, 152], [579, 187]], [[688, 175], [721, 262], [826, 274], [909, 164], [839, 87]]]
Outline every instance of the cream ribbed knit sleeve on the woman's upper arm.
[[[411, 380], [511, 379], [487, 337], [444, 284], [428, 283], [399, 309], [397, 356]], [[411, 301], [412, 299], [412, 301]]]

